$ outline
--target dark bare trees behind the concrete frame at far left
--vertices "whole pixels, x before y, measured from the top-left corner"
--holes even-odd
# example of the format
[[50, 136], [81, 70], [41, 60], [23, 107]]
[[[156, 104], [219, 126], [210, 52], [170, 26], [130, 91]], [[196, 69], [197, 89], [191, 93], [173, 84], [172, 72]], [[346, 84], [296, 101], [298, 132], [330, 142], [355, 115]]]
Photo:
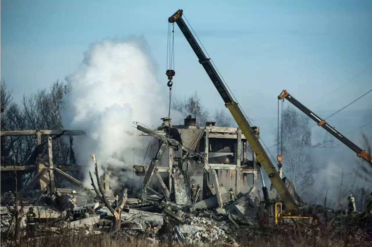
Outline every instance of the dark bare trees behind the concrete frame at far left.
[[[0, 130], [62, 129], [62, 97], [67, 92], [67, 86], [57, 80], [49, 90], [24, 95], [21, 104], [16, 104], [5, 82], [0, 82], [0, 108], [4, 109], [0, 114]], [[25, 164], [35, 147], [35, 136], [0, 137], [0, 161]], [[68, 163], [68, 147], [62, 139], [54, 140], [53, 149], [57, 164]]]

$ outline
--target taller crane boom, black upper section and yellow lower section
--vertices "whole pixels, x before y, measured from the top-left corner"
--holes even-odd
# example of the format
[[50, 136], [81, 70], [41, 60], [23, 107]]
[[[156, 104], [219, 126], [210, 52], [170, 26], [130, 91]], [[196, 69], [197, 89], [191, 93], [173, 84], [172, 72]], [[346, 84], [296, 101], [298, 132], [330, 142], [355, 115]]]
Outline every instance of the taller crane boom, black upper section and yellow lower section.
[[251, 129], [251, 126], [249, 125], [246, 117], [244, 117], [244, 114], [242, 113], [238, 104], [231, 97], [226, 86], [222, 82], [221, 78], [218, 76], [214, 66], [210, 61], [210, 58], [207, 58], [205, 56], [195, 37], [190, 32], [190, 29], [187, 27], [185, 21], [182, 19], [182, 12], [183, 11], [181, 9], [178, 10], [176, 13], [174, 13], [174, 15], [172, 15], [168, 19], [168, 21], [170, 23], [176, 22], [179, 28], [181, 29], [183, 35], [189, 42], [191, 48], [194, 50], [196, 56], [199, 58], [199, 63], [202, 64], [209, 78], [211, 78], [214, 86], [216, 87], [219, 95], [221, 95], [221, 98], [224, 100], [225, 106], [230, 111], [232, 117], [234, 117], [236, 123], [241, 129], [241, 132], [244, 134], [244, 136], [247, 139], [247, 142], [251, 146], [253, 152], [256, 153], [257, 161], [260, 162], [262, 168], [269, 176], [271, 183], [278, 192], [280, 199], [282, 200], [286, 208], [288, 210], [298, 210], [298, 206], [296, 205], [294, 198], [291, 196], [288, 189], [285, 187], [285, 184], [283, 180], [280, 178], [278, 171], [276, 171], [275, 166], [270, 161], [270, 158], [267, 155], [267, 153], [264, 151], [261, 143], [259, 142], [253, 130]]

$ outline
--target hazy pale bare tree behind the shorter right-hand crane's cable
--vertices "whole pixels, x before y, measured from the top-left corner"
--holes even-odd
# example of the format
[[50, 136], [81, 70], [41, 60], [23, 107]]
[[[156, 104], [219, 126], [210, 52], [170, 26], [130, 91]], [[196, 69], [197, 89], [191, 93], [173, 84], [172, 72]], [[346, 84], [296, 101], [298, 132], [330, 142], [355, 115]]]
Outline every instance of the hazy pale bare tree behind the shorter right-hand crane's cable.
[[[301, 196], [314, 184], [317, 168], [311, 161], [311, 129], [309, 118], [290, 106], [283, 110], [281, 130], [283, 134], [276, 137], [275, 142], [282, 145], [283, 172], [285, 177], [293, 181], [296, 193]], [[283, 137], [281, 139], [281, 136]]]

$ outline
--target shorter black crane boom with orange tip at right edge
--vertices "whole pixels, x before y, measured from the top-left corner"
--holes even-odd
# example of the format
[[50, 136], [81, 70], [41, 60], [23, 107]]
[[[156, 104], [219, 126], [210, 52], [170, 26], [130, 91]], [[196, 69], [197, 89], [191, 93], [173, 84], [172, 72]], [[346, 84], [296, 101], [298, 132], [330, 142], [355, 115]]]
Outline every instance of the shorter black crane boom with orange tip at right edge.
[[329, 126], [329, 124], [322, 120], [320, 117], [318, 117], [315, 113], [310, 111], [307, 107], [302, 105], [297, 99], [295, 99], [292, 95], [290, 95], [286, 90], [283, 90], [282, 93], [278, 96], [278, 99], [286, 99], [289, 102], [291, 102], [295, 107], [297, 107], [300, 111], [308, 115], [312, 120], [314, 120], [318, 126], [323, 127], [323, 129], [327, 130], [328, 133], [339, 139], [342, 143], [344, 143], [348, 148], [350, 148], [352, 151], [356, 152], [356, 155], [358, 157], [362, 157], [369, 163], [371, 163], [372, 156], [369, 155], [366, 151], [359, 148], [357, 145], [355, 145], [352, 141], [347, 139], [345, 136], [343, 136], [340, 132]]

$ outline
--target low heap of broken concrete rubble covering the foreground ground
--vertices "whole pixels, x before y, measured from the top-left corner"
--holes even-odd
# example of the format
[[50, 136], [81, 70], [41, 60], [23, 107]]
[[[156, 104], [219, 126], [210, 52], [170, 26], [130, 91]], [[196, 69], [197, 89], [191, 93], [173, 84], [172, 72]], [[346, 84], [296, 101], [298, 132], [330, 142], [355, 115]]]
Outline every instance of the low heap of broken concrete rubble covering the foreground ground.
[[[246, 240], [252, 240], [254, 237], [265, 235], [265, 232], [278, 235], [283, 235], [284, 232], [294, 236], [301, 232], [302, 236], [308, 238], [321, 238], [327, 231], [329, 240], [333, 241], [343, 239], [345, 232], [349, 231], [350, 241], [372, 241], [372, 219], [366, 213], [355, 212], [348, 215], [341, 210], [310, 205], [308, 210], [317, 219], [316, 225], [289, 222], [268, 227], [260, 224], [259, 211], [248, 193], [240, 193], [233, 201], [226, 200], [222, 208], [214, 204], [212, 207], [198, 208], [195, 205], [192, 207], [171, 202], [153, 189], [148, 188], [147, 191], [149, 193], [146, 202], [142, 202], [140, 196], [126, 200], [126, 206], [121, 214], [121, 229], [114, 232], [114, 235], [126, 239], [146, 238], [154, 242], [171, 240], [184, 244], [215, 243], [238, 246], [242, 235]], [[59, 211], [47, 205], [45, 202], [48, 202], [48, 198], [40, 200], [38, 205], [25, 206], [22, 228], [26, 226], [24, 215], [31, 206], [39, 217], [35, 227], [36, 234], [45, 231], [58, 234], [61, 229], [70, 229], [79, 234], [83, 230], [86, 234], [92, 235], [110, 232], [113, 219], [110, 210], [94, 195], [81, 197], [77, 200], [81, 203], [78, 203], [79, 206], [72, 212], [69, 212], [68, 208]], [[114, 198], [109, 200], [115, 201]], [[203, 201], [199, 202], [200, 205], [203, 203], [209, 205]], [[13, 215], [9, 212], [11, 207], [0, 207], [1, 232], [13, 231]], [[45, 219], [52, 221], [49, 220], [47, 223]]]

